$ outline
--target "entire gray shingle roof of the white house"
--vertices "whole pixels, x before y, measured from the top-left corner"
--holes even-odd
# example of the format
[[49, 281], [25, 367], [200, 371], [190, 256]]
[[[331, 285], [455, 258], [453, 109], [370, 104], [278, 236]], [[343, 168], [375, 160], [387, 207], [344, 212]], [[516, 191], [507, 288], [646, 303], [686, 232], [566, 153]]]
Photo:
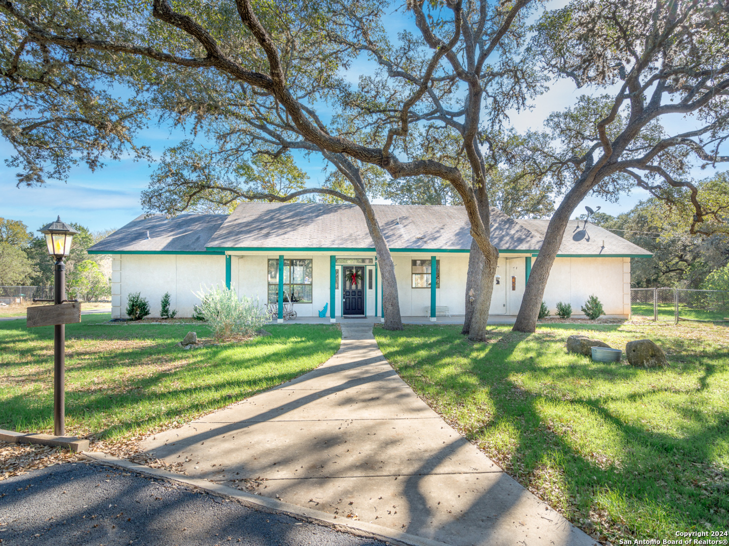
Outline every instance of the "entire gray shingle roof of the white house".
[[[464, 207], [373, 205], [392, 249], [469, 250], [471, 235]], [[539, 250], [548, 220], [516, 220], [491, 209], [491, 241], [499, 250]], [[588, 224], [586, 233], [565, 233], [561, 254], [650, 255], [605, 229]], [[580, 222], [582, 226], [583, 222]], [[150, 238], [147, 239], [147, 230]], [[603, 247], [604, 248], [601, 248]], [[373, 248], [356, 205], [324, 203], [241, 203], [231, 215], [184, 214], [135, 218], [89, 250], [114, 252], [200, 252], [254, 248]]]

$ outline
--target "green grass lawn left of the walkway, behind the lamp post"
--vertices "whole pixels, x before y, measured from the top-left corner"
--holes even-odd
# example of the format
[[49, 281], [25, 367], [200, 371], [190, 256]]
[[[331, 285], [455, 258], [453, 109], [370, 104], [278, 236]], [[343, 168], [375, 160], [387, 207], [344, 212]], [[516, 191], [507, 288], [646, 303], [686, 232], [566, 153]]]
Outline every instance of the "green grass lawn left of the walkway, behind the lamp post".
[[[190, 421], [270, 389], [331, 357], [330, 325], [268, 325], [270, 336], [185, 351], [206, 325], [99, 325], [108, 314], [66, 326], [66, 433], [114, 440]], [[52, 432], [53, 328], [0, 322], [0, 428]]]

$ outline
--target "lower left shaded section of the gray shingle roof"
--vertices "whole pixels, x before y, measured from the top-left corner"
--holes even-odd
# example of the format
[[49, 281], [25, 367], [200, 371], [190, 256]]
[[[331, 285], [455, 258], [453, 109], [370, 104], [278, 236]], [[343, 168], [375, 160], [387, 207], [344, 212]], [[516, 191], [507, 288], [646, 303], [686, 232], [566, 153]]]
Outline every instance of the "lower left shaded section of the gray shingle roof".
[[168, 220], [163, 214], [149, 218], [141, 215], [89, 250], [109, 254], [130, 251], [205, 252], [211, 235], [227, 217], [227, 214], [182, 214]]

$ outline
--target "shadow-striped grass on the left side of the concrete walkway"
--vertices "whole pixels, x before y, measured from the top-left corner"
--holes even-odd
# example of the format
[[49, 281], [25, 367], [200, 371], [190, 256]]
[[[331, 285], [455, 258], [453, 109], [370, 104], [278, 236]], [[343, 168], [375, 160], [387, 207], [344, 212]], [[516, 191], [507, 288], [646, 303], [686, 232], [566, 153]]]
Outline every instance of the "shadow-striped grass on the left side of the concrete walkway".
[[[270, 336], [245, 344], [189, 351], [175, 347], [181, 338], [179, 332], [170, 331], [163, 332], [165, 339], [141, 349], [76, 351], [66, 362], [67, 431], [110, 438], [165, 423], [184, 422], [293, 379], [324, 362], [338, 349], [340, 337], [334, 328], [330, 327], [329, 332], [296, 326], [270, 328]], [[127, 339], [123, 334], [112, 338]], [[16, 341], [38, 341], [44, 337], [45, 333], [28, 330]], [[149, 336], [139, 337], [142, 338]], [[12, 352], [32, 355], [37, 344], [31, 345]], [[19, 368], [12, 371], [12, 379], [20, 392], [9, 394], [6, 390], [5, 396], [0, 395], [0, 427], [50, 429], [52, 354], [34, 363], [5, 366], [8, 365]], [[32, 366], [31, 371], [23, 371], [28, 365]], [[30, 384], [28, 388], [21, 387], [24, 381]]]

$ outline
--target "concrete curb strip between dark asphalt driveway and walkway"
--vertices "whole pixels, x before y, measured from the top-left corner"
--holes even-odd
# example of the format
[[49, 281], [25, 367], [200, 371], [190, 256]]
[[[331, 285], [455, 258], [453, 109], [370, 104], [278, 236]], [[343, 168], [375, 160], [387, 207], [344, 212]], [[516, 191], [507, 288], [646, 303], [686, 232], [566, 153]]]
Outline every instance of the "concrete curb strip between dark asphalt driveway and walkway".
[[416, 537], [413, 534], [400, 532], [396, 529], [389, 529], [388, 527], [375, 525], [374, 523], [353, 520], [344, 521], [343, 518], [337, 518], [336, 516], [326, 512], [292, 505], [289, 502], [254, 495], [247, 493], [246, 491], [238, 491], [237, 489], [223, 486], [219, 483], [214, 483], [208, 480], [188, 478], [187, 476], [168, 472], [167, 470], [147, 467], [144, 466], [144, 464], [119, 459], [118, 457], [102, 453], [101, 451], [83, 451], [81, 455], [85, 457], [85, 459], [97, 464], [104, 464], [109, 467], [122, 468], [124, 470], [130, 470], [131, 472], [139, 472], [140, 474], [153, 476], [155, 478], [163, 478], [165, 480], [184, 483], [187, 486], [202, 489], [208, 494], [240, 502], [242, 505], [254, 508], [255, 510], [290, 515], [293, 518], [307, 521], [308, 523], [316, 523], [317, 525], [325, 526], [330, 529], [334, 529], [335, 531], [344, 531], [346, 533], [354, 534], [357, 537], [386, 540], [392, 544], [402, 546], [448, 546], [445, 542], [426, 539], [424, 537]]

